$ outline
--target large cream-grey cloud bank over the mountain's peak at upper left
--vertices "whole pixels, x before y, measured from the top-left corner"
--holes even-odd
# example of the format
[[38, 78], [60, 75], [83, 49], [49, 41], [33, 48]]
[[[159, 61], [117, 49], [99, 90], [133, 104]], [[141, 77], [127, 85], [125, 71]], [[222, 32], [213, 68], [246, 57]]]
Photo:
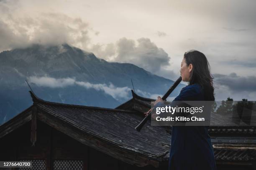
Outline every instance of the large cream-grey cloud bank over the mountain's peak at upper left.
[[93, 32], [81, 18], [47, 12], [20, 15], [13, 4], [9, 3], [0, 3], [0, 15], [0, 51], [32, 44], [63, 43], [86, 49], [90, 42], [88, 32]]

